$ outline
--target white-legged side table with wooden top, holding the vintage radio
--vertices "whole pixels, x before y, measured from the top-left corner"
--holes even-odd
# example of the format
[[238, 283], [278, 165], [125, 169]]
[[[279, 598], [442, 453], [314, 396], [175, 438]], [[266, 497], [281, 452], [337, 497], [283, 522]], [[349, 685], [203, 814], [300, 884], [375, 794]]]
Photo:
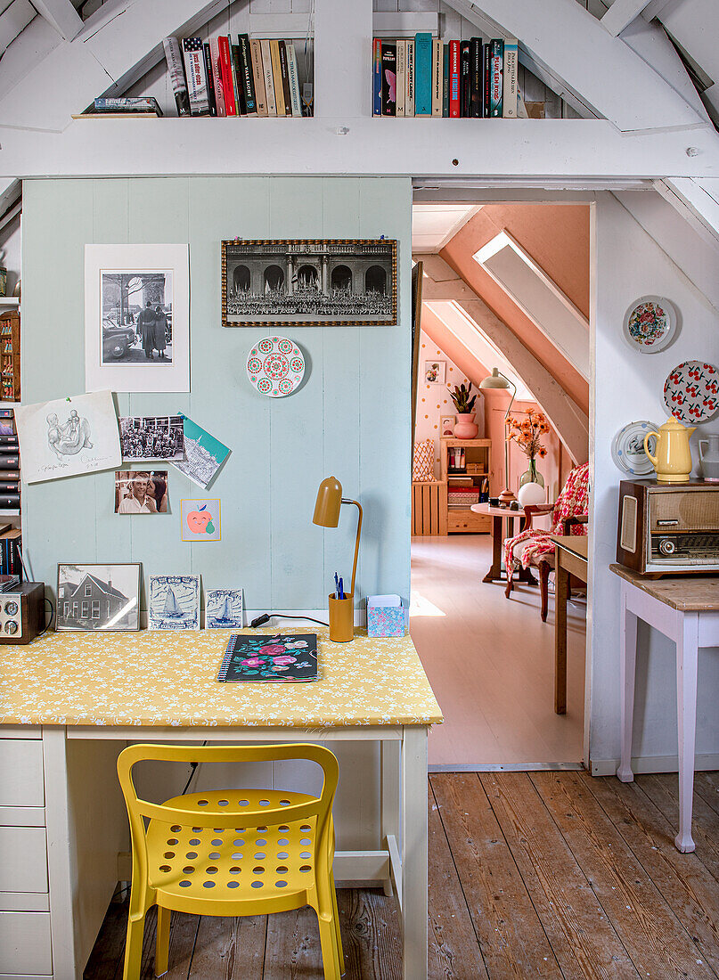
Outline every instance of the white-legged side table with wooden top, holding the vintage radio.
[[719, 646], [719, 577], [681, 575], [652, 580], [620, 564], [622, 751], [617, 776], [623, 783], [632, 772], [632, 721], [637, 664], [637, 620], [644, 619], [677, 645], [677, 723], [679, 728], [679, 851], [695, 850], [692, 799], [695, 774], [696, 663], [699, 647]]

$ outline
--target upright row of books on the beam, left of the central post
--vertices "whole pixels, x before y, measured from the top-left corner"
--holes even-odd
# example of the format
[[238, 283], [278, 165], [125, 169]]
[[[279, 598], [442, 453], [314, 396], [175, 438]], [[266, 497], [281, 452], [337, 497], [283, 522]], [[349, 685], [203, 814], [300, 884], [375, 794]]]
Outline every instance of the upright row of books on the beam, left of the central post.
[[311, 115], [303, 102], [294, 41], [219, 34], [166, 37], [165, 57], [178, 116]]

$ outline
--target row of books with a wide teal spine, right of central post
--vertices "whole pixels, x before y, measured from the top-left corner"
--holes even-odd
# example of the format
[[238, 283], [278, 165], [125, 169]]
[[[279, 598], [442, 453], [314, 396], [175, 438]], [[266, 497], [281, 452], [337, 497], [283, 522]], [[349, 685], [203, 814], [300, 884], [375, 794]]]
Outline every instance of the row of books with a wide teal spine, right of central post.
[[372, 42], [372, 115], [516, 119], [516, 39]]

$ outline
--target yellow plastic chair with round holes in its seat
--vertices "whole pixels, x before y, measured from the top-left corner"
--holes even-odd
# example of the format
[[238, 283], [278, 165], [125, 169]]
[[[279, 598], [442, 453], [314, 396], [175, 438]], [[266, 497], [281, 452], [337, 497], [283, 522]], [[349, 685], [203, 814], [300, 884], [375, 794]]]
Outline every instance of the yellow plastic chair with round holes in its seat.
[[[145, 760], [246, 762], [312, 760], [324, 773], [319, 797], [281, 790], [214, 790], [140, 800], [132, 766]], [[312, 906], [325, 980], [345, 964], [332, 861], [332, 802], [339, 765], [319, 745], [134, 745], [118, 758], [130, 821], [130, 891], [123, 980], [140, 976], [145, 915], [158, 907], [155, 974], [168, 969], [170, 912], [264, 915]], [[145, 819], [149, 822], [145, 825]]]

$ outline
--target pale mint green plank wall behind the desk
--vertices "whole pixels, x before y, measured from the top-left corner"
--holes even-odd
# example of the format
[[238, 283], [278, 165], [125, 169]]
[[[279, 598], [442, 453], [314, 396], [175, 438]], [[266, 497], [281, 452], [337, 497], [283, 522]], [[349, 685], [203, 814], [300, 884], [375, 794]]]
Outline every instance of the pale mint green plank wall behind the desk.
[[[323, 609], [335, 570], [349, 580], [356, 510], [312, 524], [319, 480], [334, 473], [364, 507], [358, 602], [409, 593], [410, 183], [395, 178], [172, 177], [32, 180], [24, 185], [23, 394], [84, 391], [85, 243], [189, 242], [191, 392], [120, 394], [121, 414], [185, 412], [232, 449], [207, 495], [170, 468], [171, 515], [113, 514], [111, 473], [24, 488], [25, 554], [55, 585], [58, 562], [142, 562], [194, 572], [205, 588], [242, 586], [251, 609]], [[399, 242], [399, 326], [286, 332], [308, 364], [302, 388], [270, 401], [249, 385], [264, 329], [220, 325], [223, 238]], [[180, 541], [183, 497], [219, 497], [222, 540]]]

